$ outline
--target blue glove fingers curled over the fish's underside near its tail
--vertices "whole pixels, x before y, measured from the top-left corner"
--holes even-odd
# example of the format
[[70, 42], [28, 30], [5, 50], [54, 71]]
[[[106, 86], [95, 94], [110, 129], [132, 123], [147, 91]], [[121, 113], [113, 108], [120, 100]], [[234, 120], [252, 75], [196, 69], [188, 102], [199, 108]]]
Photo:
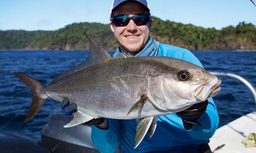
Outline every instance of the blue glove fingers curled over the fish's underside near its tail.
[[64, 98], [61, 101], [61, 109], [64, 115], [74, 116], [73, 112], [77, 111], [77, 106], [74, 102], [69, 102], [67, 98]]

